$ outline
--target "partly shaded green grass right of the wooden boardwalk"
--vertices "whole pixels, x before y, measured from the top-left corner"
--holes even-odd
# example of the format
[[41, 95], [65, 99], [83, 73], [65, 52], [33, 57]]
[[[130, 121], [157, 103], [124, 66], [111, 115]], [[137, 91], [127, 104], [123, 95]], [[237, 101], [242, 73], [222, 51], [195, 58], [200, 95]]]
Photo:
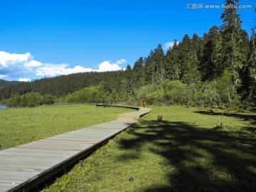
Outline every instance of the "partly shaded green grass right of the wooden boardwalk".
[[255, 114], [151, 108], [43, 191], [255, 191]]

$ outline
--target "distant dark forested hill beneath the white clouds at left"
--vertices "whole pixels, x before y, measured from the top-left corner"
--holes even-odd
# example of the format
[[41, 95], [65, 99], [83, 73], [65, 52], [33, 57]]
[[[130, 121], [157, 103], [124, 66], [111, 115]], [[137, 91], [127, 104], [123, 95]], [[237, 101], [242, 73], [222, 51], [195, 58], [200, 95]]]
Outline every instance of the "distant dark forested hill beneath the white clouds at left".
[[[23, 95], [28, 92], [38, 92], [41, 95], [54, 95], [61, 97], [70, 92], [81, 90], [84, 87], [100, 85], [100, 82], [120, 82], [123, 71], [87, 72], [70, 75], [60, 75], [54, 78], [43, 78], [32, 82], [0, 81], [0, 100], [7, 99], [11, 95]], [[110, 87], [110, 92], [112, 87]]]

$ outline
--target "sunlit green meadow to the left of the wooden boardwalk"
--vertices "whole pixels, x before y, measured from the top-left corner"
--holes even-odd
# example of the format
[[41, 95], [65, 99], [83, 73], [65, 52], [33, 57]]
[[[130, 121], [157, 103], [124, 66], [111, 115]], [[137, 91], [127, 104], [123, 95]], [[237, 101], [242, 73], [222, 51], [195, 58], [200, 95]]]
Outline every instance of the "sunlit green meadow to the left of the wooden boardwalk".
[[48, 105], [0, 110], [0, 150], [109, 122], [124, 108]]

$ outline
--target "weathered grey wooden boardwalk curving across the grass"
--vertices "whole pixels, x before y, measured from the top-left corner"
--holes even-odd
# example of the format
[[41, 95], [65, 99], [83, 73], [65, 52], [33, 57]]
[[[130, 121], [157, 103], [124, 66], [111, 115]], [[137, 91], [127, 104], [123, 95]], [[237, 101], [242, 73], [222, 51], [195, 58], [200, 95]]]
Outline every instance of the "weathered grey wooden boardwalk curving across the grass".
[[112, 122], [0, 151], [0, 191], [28, 191], [55, 174], [65, 173], [68, 166], [95, 151], [151, 110], [128, 108], [138, 111], [119, 114]]

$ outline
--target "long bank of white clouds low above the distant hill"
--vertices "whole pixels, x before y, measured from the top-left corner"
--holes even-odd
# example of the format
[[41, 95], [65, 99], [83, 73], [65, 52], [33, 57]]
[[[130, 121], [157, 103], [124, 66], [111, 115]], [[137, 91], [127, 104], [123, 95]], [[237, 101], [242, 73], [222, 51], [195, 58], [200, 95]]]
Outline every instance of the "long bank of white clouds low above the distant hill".
[[[125, 59], [117, 60], [115, 63], [104, 61], [100, 63], [97, 69], [84, 68], [76, 65], [74, 68], [68, 68], [69, 64], [41, 63], [33, 60], [31, 53], [15, 54], [0, 51], [0, 78], [4, 80], [31, 81], [38, 77], [54, 77], [57, 75], [69, 75], [72, 73], [85, 73], [90, 71], [104, 72], [112, 70], [122, 70], [119, 65], [126, 63]], [[25, 77], [25, 78], [24, 78]]]

